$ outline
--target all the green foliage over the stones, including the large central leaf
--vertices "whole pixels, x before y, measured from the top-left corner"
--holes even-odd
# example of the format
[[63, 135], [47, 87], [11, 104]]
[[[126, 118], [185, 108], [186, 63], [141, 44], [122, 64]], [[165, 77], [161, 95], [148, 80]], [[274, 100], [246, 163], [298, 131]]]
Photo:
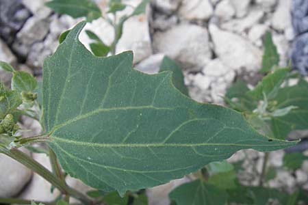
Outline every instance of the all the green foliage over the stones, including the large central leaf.
[[[84, 2], [80, 1], [81, 8], [74, 14], [70, 12], [76, 1], [54, 0], [47, 5], [57, 12], [96, 18], [97, 8]], [[147, 2], [142, 1], [130, 16], [142, 13]], [[66, 3], [63, 8], [62, 3]], [[64, 9], [67, 5], [71, 10]], [[122, 1], [111, 1], [109, 12], [116, 14], [124, 6]], [[118, 37], [127, 18], [124, 16], [119, 22], [122, 25], [116, 25]], [[172, 191], [173, 203], [266, 204], [271, 199], [287, 199], [292, 204], [305, 198], [300, 191], [287, 195], [262, 184], [245, 187], [236, 176], [237, 166], [224, 161], [247, 148], [268, 152], [293, 146], [296, 142], [278, 137], [273, 120], [291, 116], [290, 131], [305, 128], [299, 120], [305, 115], [296, 113], [298, 109], [305, 113], [307, 108], [305, 81], [288, 86], [285, 81], [290, 78], [289, 70], [275, 70], [255, 90], [249, 90], [243, 82], [229, 89], [226, 102], [237, 111], [198, 103], [188, 97], [181, 68], [174, 61], [165, 57], [159, 74], [138, 72], [132, 68], [131, 52], [103, 57], [109, 52], [107, 47], [114, 53], [116, 42], [106, 46], [87, 31], [94, 44], [103, 44], [106, 49], [94, 51], [92, 47], [92, 53], [99, 57], [94, 56], [78, 40], [85, 25], [81, 22], [62, 33], [57, 51], [44, 61], [42, 83], [9, 64], [0, 64], [13, 76], [11, 90], [0, 84], [0, 152], [38, 172], [59, 189], [63, 195], [57, 204], [69, 204], [69, 197], [75, 197], [82, 204], [145, 205], [146, 195], [138, 189], [192, 172], [198, 179]], [[294, 96], [285, 94], [284, 89], [294, 89]], [[17, 125], [20, 115], [38, 120], [42, 135], [23, 137]], [[263, 131], [264, 124], [270, 131]], [[31, 146], [37, 141], [46, 143], [48, 149]], [[48, 153], [53, 172], [18, 151], [21, 146]], [[286, 166], [298, 167], [287, 163], [288, 157]], [[95, 190], [84, 195], [68, 187], [67, 174]], [[270, 169], [264, 167], [262, 177], [270, 180]]]

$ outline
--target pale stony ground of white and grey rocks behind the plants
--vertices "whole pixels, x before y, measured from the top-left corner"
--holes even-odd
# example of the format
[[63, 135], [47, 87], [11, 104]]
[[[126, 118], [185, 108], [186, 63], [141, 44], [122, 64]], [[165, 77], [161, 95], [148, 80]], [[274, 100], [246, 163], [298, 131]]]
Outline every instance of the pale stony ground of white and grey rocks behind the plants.
[[[81, 20], [54, 14], [44, 7], [44, 1], [1, 0], [0, 3], [0, 60], [32, 72], [38, 78], [42, 74], [43, 59], [57, 48], [60, 33]], [[102, 9], [106, 1], [97, 0]], [[126, 2], [137, 5], [140, 0]], [[305, 8], [305, 1], [296, 2], [299, 8]], [[308, 6], [306, 8], [308, 10]], [[307, 35], [300, 35], [304, 32], [303, 23], [308, 22], [307, 18], [303, 20], [303, 14], [308, 12], [294, 13], [296, 29], [292, 29], [291, 9], [292, 0], [153, 0], [145, 15], [133, 17], [125, 23], [116, 52], [132, 50], [136, 68], [148, 73], [157, 72], [162, 58], [168, 55], [181, 64], [185, 84], [194, 100], [223, 104], [222, 96], [235, 79], [242, 78], [255, 85], [261, 78], [257, 71], [261, 66], [262, 38], [266, 31], [272, 31], [281, 55], [281, 66], [288, 64], [291, 47], [293, 51], [300, 50], [296, 46], [303, 45], [298, 42], [307, 39]], [[294, 22], [296, 18], [303, 22]], [[112, 42], [112, 28], [104, 20], [94, 20], [86, 25], [86, 29], [97, 33], [105, 43]], [[81, 33], [80, 40], [86, 46], [90, 42], [85, 33]], [[302, 55], [293, 55], [293, 58], [305, 73], [307, 57], [300, 59], [298, 56], [307, 54], [308, 50], [300, 51], [303, 51]], [[8, 82], [8, 74], [0, 71], [0, 79]], [[37, 124], [29, 120], [25, 124], [39, 132]], [[230, 161], [242, 159], [244, 152], [256, 162], [257, 169], [261, 169], [264, 154], [253, 150], [238, 152]], [[32, 156], [50, 168], [44, 154]], [[282, 151], [272, 152], [270, 165], [281, 166], [282, 157]], [[57, 193], [50, 193], [50, 184], [40, 176], [2, 155], [0, 162], [0, 170], [5, 167], [6, 172], [11, 173], [7, 178], [1, 171], [0, 184], [3, 186], [0, 187], [0, 197], [19, 195], [26, 199], [53, 200], [57, 196]], [[247, 172], [251, 169], [251, 165], [246, 163]], [[304, 185], [308, 189], [307, 172], [308, 163], [295, 173], [281, 169], [277, 178], [270, 181], [270, 186], [292, 191], [296, 186]], [[244, 175], [240, 179], [249, 184], [256, 182]], [[150, 204], [168, 204], [168, 192], [187, 181], [189, 178], [182, 178], [149, 189]], [[69, 184], [84, 191], [89, 189], [72, 178]]]

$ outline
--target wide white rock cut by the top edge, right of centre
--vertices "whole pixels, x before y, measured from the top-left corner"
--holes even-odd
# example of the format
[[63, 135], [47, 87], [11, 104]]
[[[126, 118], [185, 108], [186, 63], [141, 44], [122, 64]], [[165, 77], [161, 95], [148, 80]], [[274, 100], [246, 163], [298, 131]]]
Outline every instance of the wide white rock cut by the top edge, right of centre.
[[207, 20], [213, 12], [213, 5], [211, 5], [209, 0], [183, 0], [179, 8], [180, 16], [190, 20]]

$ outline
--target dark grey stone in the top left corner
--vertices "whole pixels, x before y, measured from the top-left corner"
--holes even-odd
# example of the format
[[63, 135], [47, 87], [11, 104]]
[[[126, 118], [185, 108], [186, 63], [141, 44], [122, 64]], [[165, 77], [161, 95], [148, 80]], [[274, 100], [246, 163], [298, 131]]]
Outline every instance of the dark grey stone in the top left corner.
[[0, 1], [0, 36], [11, 44], [31, 12], [25, 8], [20, 0]]

